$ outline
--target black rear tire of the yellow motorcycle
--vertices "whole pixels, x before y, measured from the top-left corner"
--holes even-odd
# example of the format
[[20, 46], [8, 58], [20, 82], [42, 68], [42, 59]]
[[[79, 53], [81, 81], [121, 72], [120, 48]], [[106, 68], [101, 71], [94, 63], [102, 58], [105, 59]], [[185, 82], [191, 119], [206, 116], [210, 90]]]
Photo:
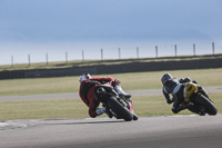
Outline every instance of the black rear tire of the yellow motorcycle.
[[218, 109], [215, 108], [215, 106], [206, 98], [204, 97], [203, 95], [198, 95], [195, 98], [194, 98], [195, 102], [201, 105], [202, 107], [205, 108], [206, 112], [209, 115], [216, 115], [218, 112]]

